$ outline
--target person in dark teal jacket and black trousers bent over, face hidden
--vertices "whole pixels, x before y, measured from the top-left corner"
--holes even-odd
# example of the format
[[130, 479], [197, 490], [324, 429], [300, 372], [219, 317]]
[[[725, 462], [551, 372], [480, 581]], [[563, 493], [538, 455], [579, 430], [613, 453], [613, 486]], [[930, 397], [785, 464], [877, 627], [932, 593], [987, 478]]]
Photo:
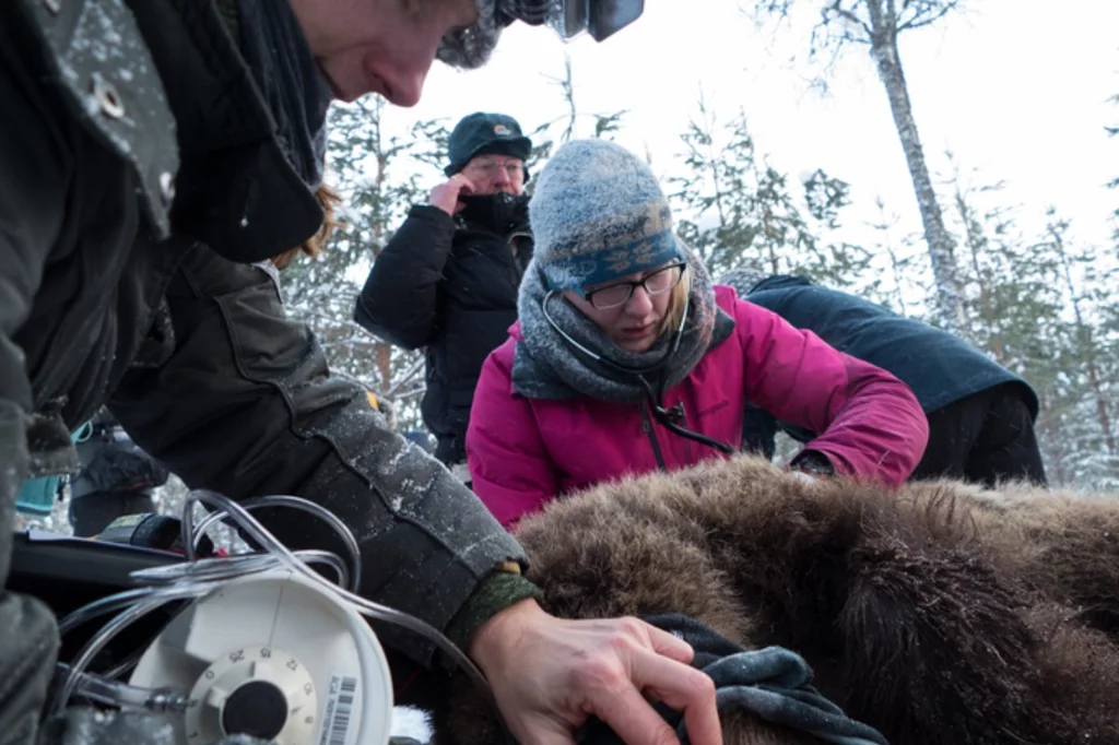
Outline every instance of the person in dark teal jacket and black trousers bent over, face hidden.
[[[1046, 483], [1034, 433], [1037, 395], [965, 340], [801, 276], [761, 279], [733, 271], [722, 282], [913, 389], [929, 419], [929, 445], [913, 479], [948, 477], [989, 487], [1007, 480]], [[796, 440], [814, 436], [751, 408], [743, 450], [772, 456], [778, 428]]]

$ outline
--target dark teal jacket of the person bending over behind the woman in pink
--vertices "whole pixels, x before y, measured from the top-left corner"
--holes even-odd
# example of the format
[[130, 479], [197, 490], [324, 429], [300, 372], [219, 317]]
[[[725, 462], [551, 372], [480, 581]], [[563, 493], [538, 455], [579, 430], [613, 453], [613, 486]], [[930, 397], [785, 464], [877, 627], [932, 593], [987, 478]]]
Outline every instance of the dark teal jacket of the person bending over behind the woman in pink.
[[[1037, 395], [1025, 380], [963, 339], [928, 323], [857, 295], [815, 285], [802, 276], [768, 277], [745, 299], [798, 329], [812, 331], [839, 351], [892, 372], [913, 389], [925, 413], [997, 385], [1014, 384], [1031, 414], [1037, 415]], [[764, 421], [767, 416], [760, 409], [747, 409], [744, 449], [771, 454], [775, 426]], [[782, 428], [798, 440], [814, 436], [791, 426]]]

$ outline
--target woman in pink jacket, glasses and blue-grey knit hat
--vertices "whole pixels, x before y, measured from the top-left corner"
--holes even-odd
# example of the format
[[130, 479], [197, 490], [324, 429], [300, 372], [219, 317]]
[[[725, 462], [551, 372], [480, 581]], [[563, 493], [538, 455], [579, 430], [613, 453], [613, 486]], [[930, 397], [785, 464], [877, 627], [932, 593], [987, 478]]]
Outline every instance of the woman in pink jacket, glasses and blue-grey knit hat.
[[509, 527], [599, 482], [726, 458], [746, 402], [822, 433], [791, 466], [896, 485], [928, 438], [891, 374], [713, 286], [649, 167], [568, 142], [529, 205], [536, 251], [510, 338], [482, 366], [473, 489]]

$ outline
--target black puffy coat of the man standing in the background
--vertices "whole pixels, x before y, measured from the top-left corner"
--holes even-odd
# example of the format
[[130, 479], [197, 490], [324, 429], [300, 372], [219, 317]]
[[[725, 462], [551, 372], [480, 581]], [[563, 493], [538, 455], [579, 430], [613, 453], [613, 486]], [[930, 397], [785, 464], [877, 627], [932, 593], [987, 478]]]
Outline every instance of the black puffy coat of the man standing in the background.
[[526, 198], [468, 215], [413, 207], [374, 262], [355, 310], [382, 339], [426, 348], [423, 417], [444, 463], [466, 460], [478, 376], [517, 320], [517, 290], [533, 254]]

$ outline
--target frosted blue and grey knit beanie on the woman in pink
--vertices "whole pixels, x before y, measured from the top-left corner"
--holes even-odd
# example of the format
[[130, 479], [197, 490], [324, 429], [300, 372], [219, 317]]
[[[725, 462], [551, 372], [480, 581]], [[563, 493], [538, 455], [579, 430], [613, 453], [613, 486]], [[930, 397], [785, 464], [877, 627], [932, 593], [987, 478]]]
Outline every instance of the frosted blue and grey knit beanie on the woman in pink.
[[685, 261], [649, 166], [606, 140], [574, 140], [540, 172], [528, 204], [534, 262], [548, 290], [575, 290]]

